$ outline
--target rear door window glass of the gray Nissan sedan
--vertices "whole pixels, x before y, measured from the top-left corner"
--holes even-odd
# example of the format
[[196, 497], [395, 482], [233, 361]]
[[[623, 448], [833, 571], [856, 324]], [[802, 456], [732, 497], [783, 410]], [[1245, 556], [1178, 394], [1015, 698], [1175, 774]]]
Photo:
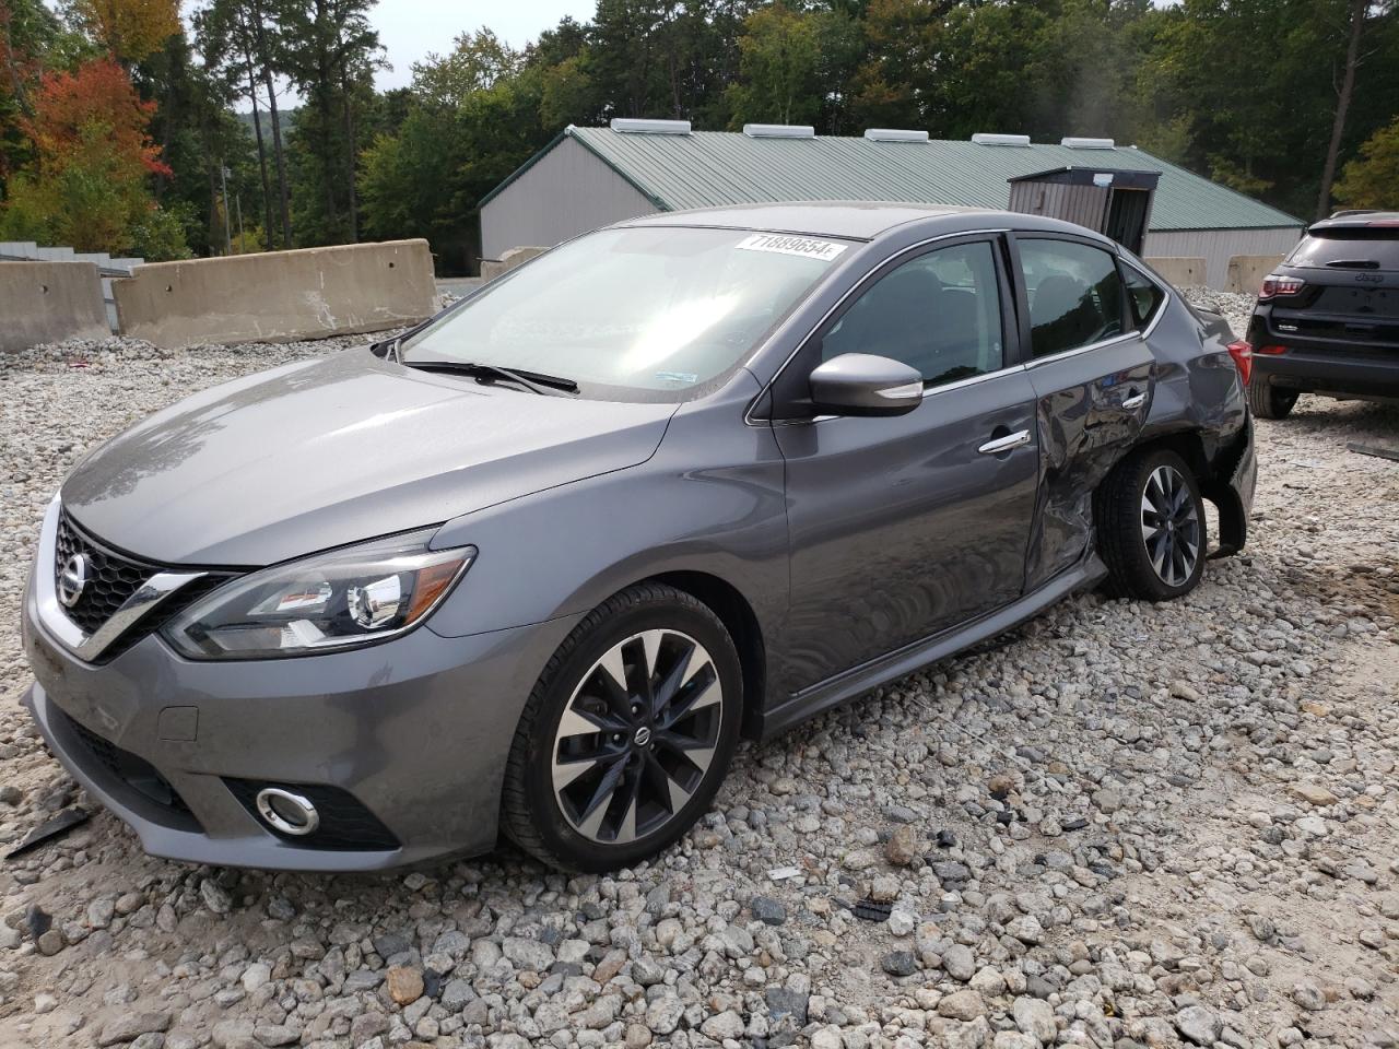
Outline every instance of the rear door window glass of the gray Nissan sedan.
[[1023, 238], [1017, 243], [1034, 357], [1122, 334], [1122, 278], [1111, 255], [1074, 241]]

